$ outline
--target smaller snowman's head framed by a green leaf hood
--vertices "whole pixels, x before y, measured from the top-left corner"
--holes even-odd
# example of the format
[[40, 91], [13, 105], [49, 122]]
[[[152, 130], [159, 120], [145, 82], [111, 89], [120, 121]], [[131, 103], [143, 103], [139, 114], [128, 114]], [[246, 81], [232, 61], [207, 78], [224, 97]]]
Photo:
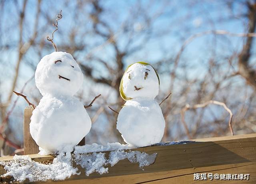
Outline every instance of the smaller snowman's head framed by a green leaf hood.
[[120, 83], [120, 95], [124, 100], [155, 98], [160, 80], [156, 70], [148, 63], [137, 62], [127, 67]]

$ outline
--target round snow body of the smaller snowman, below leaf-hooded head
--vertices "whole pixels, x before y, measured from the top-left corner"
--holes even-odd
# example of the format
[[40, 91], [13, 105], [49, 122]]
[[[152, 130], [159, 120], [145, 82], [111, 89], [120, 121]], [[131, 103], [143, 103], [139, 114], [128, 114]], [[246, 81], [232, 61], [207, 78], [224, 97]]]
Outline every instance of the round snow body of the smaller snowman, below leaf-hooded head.
[[143, 147], [159, 143], [164, 135], [165, 120], [155, 100], [128, 100], [120, 110], [116, 128], [124, 141]]

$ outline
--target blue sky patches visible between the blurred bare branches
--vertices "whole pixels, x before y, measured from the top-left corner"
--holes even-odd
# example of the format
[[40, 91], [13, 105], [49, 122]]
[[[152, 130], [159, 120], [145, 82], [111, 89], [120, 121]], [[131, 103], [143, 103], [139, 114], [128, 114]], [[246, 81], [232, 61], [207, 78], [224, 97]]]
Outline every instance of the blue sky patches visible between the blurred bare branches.
[[[22, 0], [18, 1], [18, 8], [21, 9]], [[171, 58], [174, 59], [176, 54], [180, 50], [182, 44], [186, 39], [188, 39], [193, 34], [204, 32], [206, 30], [226, 30], [232, 33], [240, 33], [244, 32], [244, 25], [246, 23], [245, 18], [237, 18], [237, 19], [229, 19], [230, 10], [226, 5], [226, 1], [218, 0], [218, 1], [189, 1], [189, 0], [174, 0], [174, 1], [166, 1], [166, 6], [164, 5], [164, 1], [140, 1], [142, 5], [142, 10], [146, 10], [149, 16], [153, 16], [159, 10], [163, 9], [163, 14], [159, 16], [154, 24], [150, 27], [151, 31], [158, 35], [154, 36], [154, 38], [150, 38], [148, 42], [143, 46], [142, 50], [139, 52], [135, 52], [134, 54], [124, 58], [125, 67], [129, 64], [136, 61], [146, 61], [150, 62], [154, 65], [154, 63], [158, 60]], [[152, 4], [151, 4], [152, 2]], [[243, 2], [243, 1], [240, 1]], [[114, 32], [117, 34], [116, 39], [118, 40], [118, 44], [122, 49], [127, 42], [127, 35], [124, 33], [119, 33], [120, 27], [122, 23], [129, 18], [132, 18], [133, 10], [136, 10], [138, 1], [130, 0], [130, 1], [119, 1], [119, 0], [106, 0], [103, 1], [102, 5], [106, 10], [104, 16], [102, 16], [102, 20], [106, 20]], [[82, 61], [83, 64], [88, 64], [90, 66], [94, 66], [98, 70], [94, 71], [96, 76], [107, 76], [108, 73], [102, 71], [102, 66], [96, 62], [90, 62], [84, 60], [84, 56], [88, 54], [91, 50], [95, 48], [95, 46], [99, 46], [104, 43], [104, 40], [95, 36], [90, 31], [92, 30], [92, 22], [88, 17], [88, 12], [92, 10], [91, 6], [85, 6], [82, 12], [84, 14], [79, 13], [76, 10], [76, 4], [74, 1], [69, 1], [68, 5], [65, 4], [65, 1], [50, 1], [45, 0], [42, 1], [42, 10], [47, 12], [49, 17], [55, 18], [56, 14], [59, 10], [62, 10], [63, 18], [59, 21], [58, 30], [64, 34], [58, 34], [58, 32], [54, 35], [55, 43], [58, 45], [62, 43], [68, 43], [67, 35], [70, 34], [70, 30], [72, 28], [77, 28], [77, 34], [84, 33], [88, 30], [88, 34], [85, 34], [83, 37], [78, 37], [77, 43], [88, 44], [85, 50], [75, 52], [74, 56]], [[0, 42], [2, 44], [17, 44], [18, 42], [18, 14], [16, 12], [17, 8], [14, 6], [12, 1], [7, 2], [4, 11], [2, 12], [2, 20], [0, 22], [0, 26], [2, 27], [0, 30], [8, 30], [8, 32], [4, 32], [1, 34]], [[240, 3], [235, 3], [233, 14], [242, 14], [246, 10], [244, 6], [241, 6]], [[76, 25], [72, 20], [72, 17], [78, 14], [80, 24]], [[140, 15], [140, 14], [139, 14]], [[28, 0], [28, 6], [26, 10], [26, 17], [24, 26], [24, 40], [28, 41], [30, 38], [33, 25], [36, 16], [36, 1]], [[136, 22], [133, 23], [134, 30], [142, 30], [140, 31], [148, 31], [144, 28], [145, 20], [142, 16], [135, 17]], [[40, 18], [40, 29], [43, 29], [44, 24], [46, 23], [44, 18]], [[10, 28], [9, 28], [10, 27]], [[44, 39], [46, 35], [51, 34], [52, 30], [54, 30], [54, 26], [50, 25], [44, 31], [41, 30], [40, 35], [38, 36], [38, 40]], [[138, 35], [140, 34], [138, 32]], [[136, 34], [135, 34], [136, 36]], [[134, 45], [139, 44], [143, 37], [136, 38], [134, 41]], [[216, 39], [217, 38], [217, 39]], [[182, 68], [177, 70], [177, 73], [180, 75], [184, 75], [184, 72], [188, 75], [189, 78], [202, 78], [204, 76], [204, 72], [208, 66], [208, 60], [211, 57], [219, 59], [220, 61], [223, 59], [224, 55], [230, 54], [233, 50], [240, 50], [242, 48], [242, 40], [244, 38], [238, 37], [230, 37], [230, 36], [216, 36], [212, 34], [204, 35], [194, 39], [190, 44], [186, 46], [186, 49], [182, 53], [180, 58], [181, 63], [185, 64], [188, 67], [188, 70], [184, 71]], [[45, 39], [45, 42], [46, 39]], [[216, 44], [216, 50], [212, 50], [213, 44]], [[14, 47], [11, 50], [0, 51], [2, 56], [2, 61], [0, 62], [0, 72], [1, 76], [4, 76], [1, 82], [2, 96], [6, 97], [11, 81], [14, 74], [14, 67], [17, 60], [17, 49], [18, 47]], [[49, 54], [53, 52], [53, 48], [43, 48], [42, 55]], [[25, 63], [25, 60], [32, 61], [35, 65], [40, 61], [40, 57], [38, 56], [35, 48], [30, 48], [24, 59], [22, 60], [22, 64], [20, 67], [20, 76], [18, 78], [18, 85], [16, 87], [17, 90], [22, 88], [24, 82], [26, 82], [34, 73], [34, 68]], [[109, 64], [114, 66], [114, 50], [112, 46], [106, 45], [97, 50], [95, 53], [100, 58], [104, 58], [108, 60]], [[253, 53], [253, 58], [255, 58], [255, 53]], [[219, 62], [220, 62], [219, 61]], [[172, 60], [170, 60], [170, 66], [172, 67]], [[5, 68], [5, 66], [8, 66]], [[228, 64], [227, 64], [228, 65]], [[157, 66], [155, 66], [157, 67]], [[125, 68], [124, 68], [125, 69]], [[228, 70], [226, 64], [223, 65], [223, 72]], [[216, 76], [218, 77], [218, 76]], [[167, 90], [170, 84], [169, 74], [161, 74], [160, 72], [160, 80], [161, 80], [161, 89], [163, 91]], [[180, 85], [176, 85], [176, 92], [180, 90]], [[84, 90], [91, 88], [94, 86], [92, 82], [85, 77], [84, 80]], [[97, 85], [97, 89], [95, 93], [105, 91], [105, 86]], [[26, 94], [34, 94], [36, 96], [38, 92], [33, 92], [35, 90], [34, 81], [28, 84], [28, 87], [25, 90]], [[32, 92], [31, 92], [32, 91]], [[90, 96], [90, 92], [85, 92], [85, 96]], [[112, 94], [112, 98], [116, 98], [116, 94]], [[23, 109], [25, 102], [19, 100], [19, 105], [17, 109]], [[22, 112], [20, 110], [19, 112]]]

